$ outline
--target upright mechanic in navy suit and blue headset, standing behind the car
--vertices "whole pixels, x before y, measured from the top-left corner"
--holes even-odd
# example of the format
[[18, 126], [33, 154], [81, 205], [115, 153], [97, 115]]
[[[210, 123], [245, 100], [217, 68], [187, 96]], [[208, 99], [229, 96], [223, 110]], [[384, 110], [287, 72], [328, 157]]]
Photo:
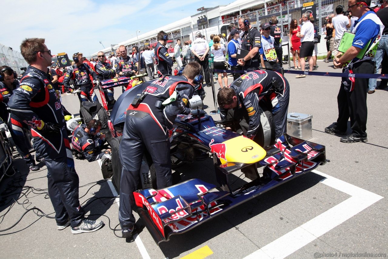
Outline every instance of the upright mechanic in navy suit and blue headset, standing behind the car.
[[167, 33], [160, 31], [157, 36], [158, 44], [156, 44], [156, 47], [154, 49], [155, 54], [155, 62], [158, 68], [159, 76], [163, 75], [172, 75], [172, 58], [168, 54], [168, 51], [166, 49], [166, 44], [168, 40]]

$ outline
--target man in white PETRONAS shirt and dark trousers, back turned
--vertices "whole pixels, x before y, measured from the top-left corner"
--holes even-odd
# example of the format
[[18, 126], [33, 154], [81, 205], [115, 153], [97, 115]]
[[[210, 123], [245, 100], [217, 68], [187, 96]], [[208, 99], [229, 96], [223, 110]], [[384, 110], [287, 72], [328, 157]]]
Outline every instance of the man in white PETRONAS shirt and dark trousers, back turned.
[[191, 44], [191, 52], [194, 54], [195, 61], [201, 64], [204, 72], [205, 82], [207, 86], [210, 86], [210, 74], [209, 74], [209, 44], [206, 40], [202, 39], [202, 33], [196, 33], [197, 39]]

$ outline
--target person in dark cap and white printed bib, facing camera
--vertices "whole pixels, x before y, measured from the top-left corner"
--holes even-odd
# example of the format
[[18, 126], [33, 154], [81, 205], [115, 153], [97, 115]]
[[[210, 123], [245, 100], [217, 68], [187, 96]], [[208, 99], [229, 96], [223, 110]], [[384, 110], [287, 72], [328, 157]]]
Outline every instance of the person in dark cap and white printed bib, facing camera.
[[277, 69], [279, 68], [279, 61], [274, 47], [275, 38], [270, 35], [271, 25], [266, 23], [263, 25], [262, 30], [262, 47], [259, 49], [260, 62], [263, 68], [267, 68], [268, 70]]

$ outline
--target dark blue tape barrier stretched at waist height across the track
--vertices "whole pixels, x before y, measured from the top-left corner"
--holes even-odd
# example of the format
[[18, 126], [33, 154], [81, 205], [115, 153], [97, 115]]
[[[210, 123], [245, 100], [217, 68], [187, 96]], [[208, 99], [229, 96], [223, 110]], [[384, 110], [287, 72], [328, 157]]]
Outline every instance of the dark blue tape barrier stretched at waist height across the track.
[[[247, 73], [248, 70], [220, 70], [214, 69], [214, 72], [218, 73]], [[310, 72], [310, 71], [298, 71], [298, 70], [284, 70], [284, 73], [290, 74], [304, 74], [304, 75], [319, 75], [328, 77], [354, 77], [354, 78], [376, 78], [376, 79], [388, 79], [386, 74], [352, 74], [352, 73], [334, 73], [334, 72]]]

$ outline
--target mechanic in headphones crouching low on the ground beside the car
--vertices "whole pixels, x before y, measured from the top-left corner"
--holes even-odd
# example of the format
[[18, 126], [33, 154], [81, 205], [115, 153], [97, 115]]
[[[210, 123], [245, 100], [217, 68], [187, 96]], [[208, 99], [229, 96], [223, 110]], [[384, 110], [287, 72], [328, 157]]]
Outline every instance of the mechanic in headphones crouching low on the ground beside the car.
[[82, 153], [89, 162], [100, 159], [104, 154], [109, 154], [110, 149], [102, 151], [105, 144], [105, 134], [100, 133], [101, 122], [92, 119], [88, 124], [81, 124], [74, 129], [71, 144], [73, 149]]

